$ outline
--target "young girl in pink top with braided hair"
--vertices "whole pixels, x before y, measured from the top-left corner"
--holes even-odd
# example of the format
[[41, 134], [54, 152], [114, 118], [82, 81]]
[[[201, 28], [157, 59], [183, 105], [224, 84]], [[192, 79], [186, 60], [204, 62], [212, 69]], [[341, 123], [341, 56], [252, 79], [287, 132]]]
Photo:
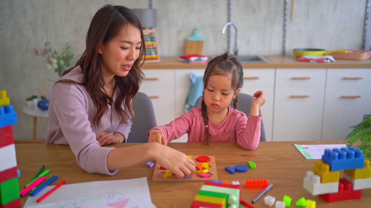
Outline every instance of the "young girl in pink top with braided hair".
[[[254, 93], [248, 117], [238, 110], [237, 97], [243, 84], [243, 70], [234, 56], [224, 53], [209, 61], [204, 77], [201, 107], [171, 121], [152, 128], [148, 142], [166, 145], [188, 133], [188, 142], [236, 142], [246, 150], [254, 150], [260, 140], [259, 108], [265, 103], [263, 91]], [[233, 99], [234, 108], [229, 104]]]

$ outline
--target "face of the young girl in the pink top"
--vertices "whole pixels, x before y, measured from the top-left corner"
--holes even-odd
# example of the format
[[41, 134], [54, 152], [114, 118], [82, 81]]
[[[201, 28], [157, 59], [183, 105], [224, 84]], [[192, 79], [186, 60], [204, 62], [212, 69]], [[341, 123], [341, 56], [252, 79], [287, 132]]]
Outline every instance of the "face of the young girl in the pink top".
[[[239, 88], [237, 93], [241, 90]], [[236, 98], [232, 89], [232, 74], [227, 76], [214, 75], [209, 77], [204, 89], [204, 102], [207, 107], [207, 114], [225, 114], [228, 112], [228, 105]], [[210, 115], [210, 114], [209, 114]]]

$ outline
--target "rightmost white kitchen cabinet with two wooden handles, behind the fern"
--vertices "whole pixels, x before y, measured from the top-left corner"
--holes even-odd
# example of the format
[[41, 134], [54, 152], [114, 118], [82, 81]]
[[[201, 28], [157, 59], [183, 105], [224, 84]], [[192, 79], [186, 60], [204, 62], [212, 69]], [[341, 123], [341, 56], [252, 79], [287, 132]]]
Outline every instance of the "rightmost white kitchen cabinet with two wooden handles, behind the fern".
[[344, 140], [371, 114], [371, 70], [327, 69], [322, 140]]

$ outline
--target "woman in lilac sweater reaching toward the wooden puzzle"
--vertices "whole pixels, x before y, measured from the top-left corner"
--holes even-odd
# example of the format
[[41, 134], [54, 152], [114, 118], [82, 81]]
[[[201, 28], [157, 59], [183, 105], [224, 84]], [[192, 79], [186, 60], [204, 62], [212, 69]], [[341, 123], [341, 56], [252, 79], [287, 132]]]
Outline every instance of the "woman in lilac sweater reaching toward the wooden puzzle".
[[86, 35], [86, 50], [50, 90], [46, 143], [70, 145], [77, 163], [91, 173], [113, 175], [151, 158], [178, 178], [195, 171], [185, 154], [157, 143], [102, 147], [128, 139], [132, 99], [143, 77], [138, 57], [144, 54], [135, 14], [124, 6], [99, 9]]

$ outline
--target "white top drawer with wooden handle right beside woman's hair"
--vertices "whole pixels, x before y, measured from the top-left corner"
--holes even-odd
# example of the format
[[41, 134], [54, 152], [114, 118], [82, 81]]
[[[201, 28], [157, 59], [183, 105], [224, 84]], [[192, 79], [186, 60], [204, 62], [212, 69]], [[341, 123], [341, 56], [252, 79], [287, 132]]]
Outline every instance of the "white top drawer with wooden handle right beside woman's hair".
[[174, 70], [142, 70], [145, 74], [141, 88], [174, 87]]

